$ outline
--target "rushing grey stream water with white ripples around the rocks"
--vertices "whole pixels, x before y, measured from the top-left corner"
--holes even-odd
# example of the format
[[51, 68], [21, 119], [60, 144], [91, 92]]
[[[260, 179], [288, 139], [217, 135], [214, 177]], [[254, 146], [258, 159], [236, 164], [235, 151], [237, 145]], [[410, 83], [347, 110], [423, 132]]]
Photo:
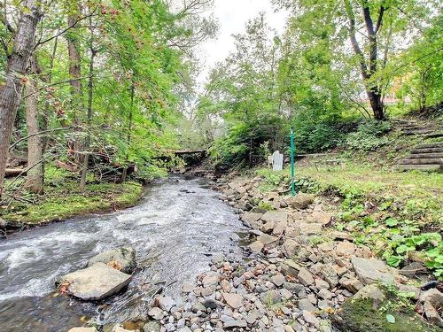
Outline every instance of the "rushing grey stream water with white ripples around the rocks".
[[[0, 331], [67, 331], [82, 317], [100, 323], [143, 318], [153, 294], [180, 301], [183, 282], [223, 253], [241, 259], [245, 229], [203, 179], [172, 176], [148, 189], [133, 208], [67, 220], [0, 240]], [[86, 303], [57, 296], [54, 280], [100, 251], [131, 245], [138, 268], [128, 289]]]

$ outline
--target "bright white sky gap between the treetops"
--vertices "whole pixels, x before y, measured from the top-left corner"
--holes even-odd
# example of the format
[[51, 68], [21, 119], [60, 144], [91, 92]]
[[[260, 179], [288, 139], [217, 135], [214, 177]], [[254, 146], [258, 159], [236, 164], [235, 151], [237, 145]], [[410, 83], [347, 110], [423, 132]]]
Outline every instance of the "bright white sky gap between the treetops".
[[220, 29], [218, 35], [202, 43], [198, 50], [198, 58], [203, 70], [198, 75], [198, 82], [203, 83], [208, 73], [217, 62], [222, 61], [234, 50], [232, 35], [245, 31], [245, 24], [260, 12], [265, 12], [269, 26], [283, 33], [286, 12], [274, 12], [271, 0], [215, 0], [214, 18], [218, 20]]

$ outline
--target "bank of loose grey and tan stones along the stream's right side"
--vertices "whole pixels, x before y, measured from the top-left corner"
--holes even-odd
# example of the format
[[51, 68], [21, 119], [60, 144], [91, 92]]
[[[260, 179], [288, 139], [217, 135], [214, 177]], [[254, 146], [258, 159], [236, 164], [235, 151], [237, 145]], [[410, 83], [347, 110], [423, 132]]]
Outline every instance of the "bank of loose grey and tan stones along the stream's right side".
[[[250, 228], [245, 259], [214, 257], [209, 271], [195, 283], [183, 285], [183, 301], [159, 296], [147, 313], [148, 322], [103, 330], [328, 332], [443, 327], [439, 282], [420, 289], [412, 277], [413, 266], [402, 271], [386, 266], [352, 235], [330, 228], [336, 213], [334, 199], [262, 193], [259, 186], [257, 177], [219, 188], [221, 199], [237, 208]], [[253, 206], [254, 200], [264, 204]]]

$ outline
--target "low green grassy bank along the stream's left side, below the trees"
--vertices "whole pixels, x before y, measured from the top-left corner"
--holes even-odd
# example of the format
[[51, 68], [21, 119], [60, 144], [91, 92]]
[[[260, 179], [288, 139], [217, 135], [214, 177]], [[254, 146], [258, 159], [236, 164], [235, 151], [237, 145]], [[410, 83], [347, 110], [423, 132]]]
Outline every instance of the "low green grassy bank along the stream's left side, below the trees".
[[89, 183], [84, 193], [78, 187], [77, 181], [68, 179], [57, 186], [47, 185], [41, 197], [26, 195], [32, 204], [14, 201], [12, 205], [0, 206], [0, 216], [10, 224], [40, 225], [135, 205], [143, 194], [142, 185], [131, 181]]

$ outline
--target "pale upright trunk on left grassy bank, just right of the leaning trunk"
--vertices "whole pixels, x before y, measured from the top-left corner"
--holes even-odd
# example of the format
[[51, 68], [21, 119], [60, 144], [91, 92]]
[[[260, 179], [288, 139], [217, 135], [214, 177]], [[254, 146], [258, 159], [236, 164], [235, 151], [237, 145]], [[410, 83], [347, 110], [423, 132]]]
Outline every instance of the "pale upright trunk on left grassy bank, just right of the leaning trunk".
[[[36, 59], [31, 60], [31, 73], [39, 73]], [[35, 192], [35, 194], [43, 193], [43, 144], [40, 133], [38, 101], [35, 91], [35, 84], [28, 81], [26, 85], [26, 120], [27, 120], [27, 179], [25, 188]]]

